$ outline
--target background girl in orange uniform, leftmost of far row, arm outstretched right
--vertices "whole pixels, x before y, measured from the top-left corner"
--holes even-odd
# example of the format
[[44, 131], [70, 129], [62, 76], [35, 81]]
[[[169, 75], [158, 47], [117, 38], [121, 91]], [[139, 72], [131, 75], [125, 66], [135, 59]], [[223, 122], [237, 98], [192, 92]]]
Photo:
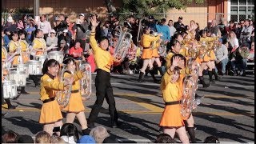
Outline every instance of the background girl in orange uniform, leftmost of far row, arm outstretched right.
[[150, 28], [148, 26], [144, 27], [142, 40], [141, 40], [141, 46], [143, 47], [143, 51], [142, 51], [143, 66], [139, 73], [138, 82], [142, 82], [142, 77], [145, 74], [145, 70], [147, 66], [150, 66], [150, 74], [154, 82], [158, 82], [158, 80], [154, 77], [153, 63], [151, 62], [153, 51], [150, 45], [151, 45], [151, 42], [158, 41], [160, 39], [160, 36], [162, 36], [162, 34], [158, 34], [158, 36], [156, 37], [150, 36]]

